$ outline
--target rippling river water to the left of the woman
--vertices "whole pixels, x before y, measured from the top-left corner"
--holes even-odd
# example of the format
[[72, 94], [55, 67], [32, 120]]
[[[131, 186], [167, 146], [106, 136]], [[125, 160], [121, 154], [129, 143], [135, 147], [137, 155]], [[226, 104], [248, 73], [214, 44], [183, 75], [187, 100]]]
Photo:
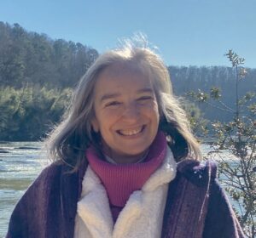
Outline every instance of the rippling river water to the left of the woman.
[[0, 144], [0, 237], [7, 232], [9, 217], [29, 184], [48, 164], [39, 142]]

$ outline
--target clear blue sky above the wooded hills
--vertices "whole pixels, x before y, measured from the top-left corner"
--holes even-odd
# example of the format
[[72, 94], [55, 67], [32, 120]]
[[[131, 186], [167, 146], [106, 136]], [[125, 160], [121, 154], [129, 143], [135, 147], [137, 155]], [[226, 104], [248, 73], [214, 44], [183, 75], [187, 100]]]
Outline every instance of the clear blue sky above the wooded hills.
[[2, 0], [0, 21], [96, 48], [141, 31], [166, 65], [230, 65], [232, 48], [256, 68], [255, 0]]

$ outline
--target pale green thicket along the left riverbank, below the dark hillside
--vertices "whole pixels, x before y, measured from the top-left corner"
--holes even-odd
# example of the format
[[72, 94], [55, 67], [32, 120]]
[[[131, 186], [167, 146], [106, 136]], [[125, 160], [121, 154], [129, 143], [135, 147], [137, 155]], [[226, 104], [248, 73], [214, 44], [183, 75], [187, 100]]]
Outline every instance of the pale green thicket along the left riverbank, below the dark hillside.
[[37, 140], [67, 109], [73, 89], [0, 88], [0, 140]]

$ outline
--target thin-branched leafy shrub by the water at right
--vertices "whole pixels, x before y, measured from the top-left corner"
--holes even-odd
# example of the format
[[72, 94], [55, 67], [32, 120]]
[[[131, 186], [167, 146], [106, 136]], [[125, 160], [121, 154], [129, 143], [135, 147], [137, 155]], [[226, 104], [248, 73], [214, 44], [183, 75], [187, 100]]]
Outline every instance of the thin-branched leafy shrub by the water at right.
[[[224, 54], [232, 64], [235, 77], [235, 108], [224, 104], [219, 88], [210, 93], [190, 93], [197, 101], [205, 102], [232, 115], [230, 122], [214, 122], [216, 141], [207, 155], [219, 161], [219, 180], [233, 199], [236, 215], [247, 237], [256, 237], [256, 94], [240, 96], [240, 85], [247, 75], [241, 65], [243, 58], [232, 50]], [[227, 157], [228, 156], [228, 157]]]

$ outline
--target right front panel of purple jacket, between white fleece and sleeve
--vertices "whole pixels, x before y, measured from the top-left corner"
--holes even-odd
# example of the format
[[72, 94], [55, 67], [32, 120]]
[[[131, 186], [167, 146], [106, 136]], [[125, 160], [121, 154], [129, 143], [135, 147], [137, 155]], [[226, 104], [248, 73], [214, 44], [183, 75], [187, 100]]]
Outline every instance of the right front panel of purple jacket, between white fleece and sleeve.
[[210, 172], [198, 161], [178, 163], [177, 177], [169, 184], [162, 238], [201, 237], [210, 178]]

